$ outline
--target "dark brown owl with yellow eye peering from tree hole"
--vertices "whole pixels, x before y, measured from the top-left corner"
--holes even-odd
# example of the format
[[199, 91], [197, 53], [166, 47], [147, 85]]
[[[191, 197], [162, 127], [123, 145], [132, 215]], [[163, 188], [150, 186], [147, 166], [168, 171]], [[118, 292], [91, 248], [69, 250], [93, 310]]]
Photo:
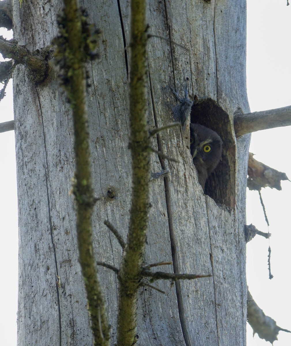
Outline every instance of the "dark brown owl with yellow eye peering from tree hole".
[[198, 172], [198, 181], [204, 192], [206, 179], [213, 172], [221, 158], [222, 140], [215, 131], [191, 123], [190, 151]]

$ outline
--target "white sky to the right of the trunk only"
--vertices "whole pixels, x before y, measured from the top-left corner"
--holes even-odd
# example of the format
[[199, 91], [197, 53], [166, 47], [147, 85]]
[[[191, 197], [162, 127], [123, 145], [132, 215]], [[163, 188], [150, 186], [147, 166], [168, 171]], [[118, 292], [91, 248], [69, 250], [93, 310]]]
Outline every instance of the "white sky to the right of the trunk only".
[[[247, 92], [251, 111], [291, 105], [290, 32], [291, 4], [285, 0], [247, 1]], [[256, 160], [285, 172], [291, 180], [291, 127], [258, 131], [252, 134], [249, 151]], [[247, 243], [247, 283], [256, 303], [277, 325], [291, 330], [290, 244], [291, 182], [282, 182], [282, 191], [262, 190], [269, 220], [271, 271], [267, 256], [269, 240], [256, 236]], [[247, 224], [267, 232], [257, 191], [247, 189]], [[255, 335], [247, 324], [247, 346], [270, 345]], [[279, 332], [274, 346], [291, 345], [291, 334]]]

